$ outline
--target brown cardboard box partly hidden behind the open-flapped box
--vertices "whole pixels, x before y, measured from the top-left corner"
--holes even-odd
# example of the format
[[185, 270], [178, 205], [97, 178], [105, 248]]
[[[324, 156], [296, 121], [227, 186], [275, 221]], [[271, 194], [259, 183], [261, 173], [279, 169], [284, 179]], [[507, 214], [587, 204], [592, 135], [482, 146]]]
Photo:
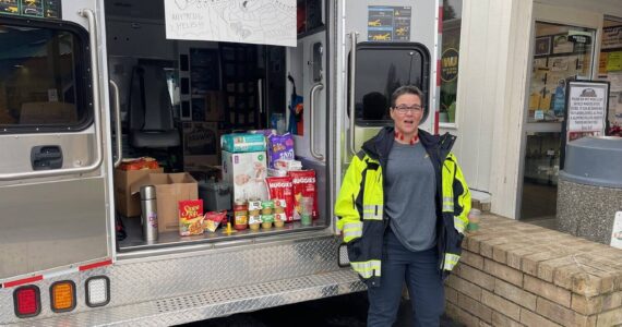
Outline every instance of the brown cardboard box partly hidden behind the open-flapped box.
[[136, 181], [164, 169], [121, 170], [115, 169], [115, 206], [125, 217], [141, 216], [141, 195], [132, 194], [131, 187]]

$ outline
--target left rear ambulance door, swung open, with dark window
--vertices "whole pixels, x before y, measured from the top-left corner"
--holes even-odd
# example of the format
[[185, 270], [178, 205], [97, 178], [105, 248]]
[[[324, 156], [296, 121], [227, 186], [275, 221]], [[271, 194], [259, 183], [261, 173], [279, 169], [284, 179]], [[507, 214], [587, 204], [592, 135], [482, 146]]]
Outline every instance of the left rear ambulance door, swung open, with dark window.
[[61, 1], [43, 2], [0, 15], [4, 287], [111, 256], [104, 80], [94, 63], [98, 9], [67, 1], [61, 17]]

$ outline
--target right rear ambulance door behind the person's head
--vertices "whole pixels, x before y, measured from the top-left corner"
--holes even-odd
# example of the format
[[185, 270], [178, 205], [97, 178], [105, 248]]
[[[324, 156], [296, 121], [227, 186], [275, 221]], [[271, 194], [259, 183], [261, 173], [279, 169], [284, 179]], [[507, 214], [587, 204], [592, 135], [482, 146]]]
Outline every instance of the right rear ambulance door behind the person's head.
[[[331, 165], [340, 177], [361, 145], [383, 126], [392, 93], [402, 85], [419, 87], [426, 97], [421, 129], [434, 133], [438, 107], [436, 74], [439, 1], [337, 1], [335, 57], [335, 157]], [[333, 198], [333, 203], [334, 199]]]

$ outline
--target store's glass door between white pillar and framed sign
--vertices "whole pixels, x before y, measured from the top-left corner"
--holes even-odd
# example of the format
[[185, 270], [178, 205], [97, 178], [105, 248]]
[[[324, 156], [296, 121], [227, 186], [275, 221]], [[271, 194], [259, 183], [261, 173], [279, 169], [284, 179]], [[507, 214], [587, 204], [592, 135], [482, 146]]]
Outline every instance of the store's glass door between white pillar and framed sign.
[[591, 80], [596, 29], [535, 23], [519, 217], [555, 218], [566, 83]]

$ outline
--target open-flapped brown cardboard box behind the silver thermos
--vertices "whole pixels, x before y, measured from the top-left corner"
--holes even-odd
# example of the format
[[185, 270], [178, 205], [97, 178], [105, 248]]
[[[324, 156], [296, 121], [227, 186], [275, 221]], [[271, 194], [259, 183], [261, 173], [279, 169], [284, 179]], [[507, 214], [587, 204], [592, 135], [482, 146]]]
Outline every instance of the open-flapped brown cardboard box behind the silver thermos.
[[156, 187], [158, 232], [179, 230], [179, 202], [199, 198], [196, 180], [187, 172], [149, 173], [132, 185], [132, 194], [137, 194], [142, 185]]

